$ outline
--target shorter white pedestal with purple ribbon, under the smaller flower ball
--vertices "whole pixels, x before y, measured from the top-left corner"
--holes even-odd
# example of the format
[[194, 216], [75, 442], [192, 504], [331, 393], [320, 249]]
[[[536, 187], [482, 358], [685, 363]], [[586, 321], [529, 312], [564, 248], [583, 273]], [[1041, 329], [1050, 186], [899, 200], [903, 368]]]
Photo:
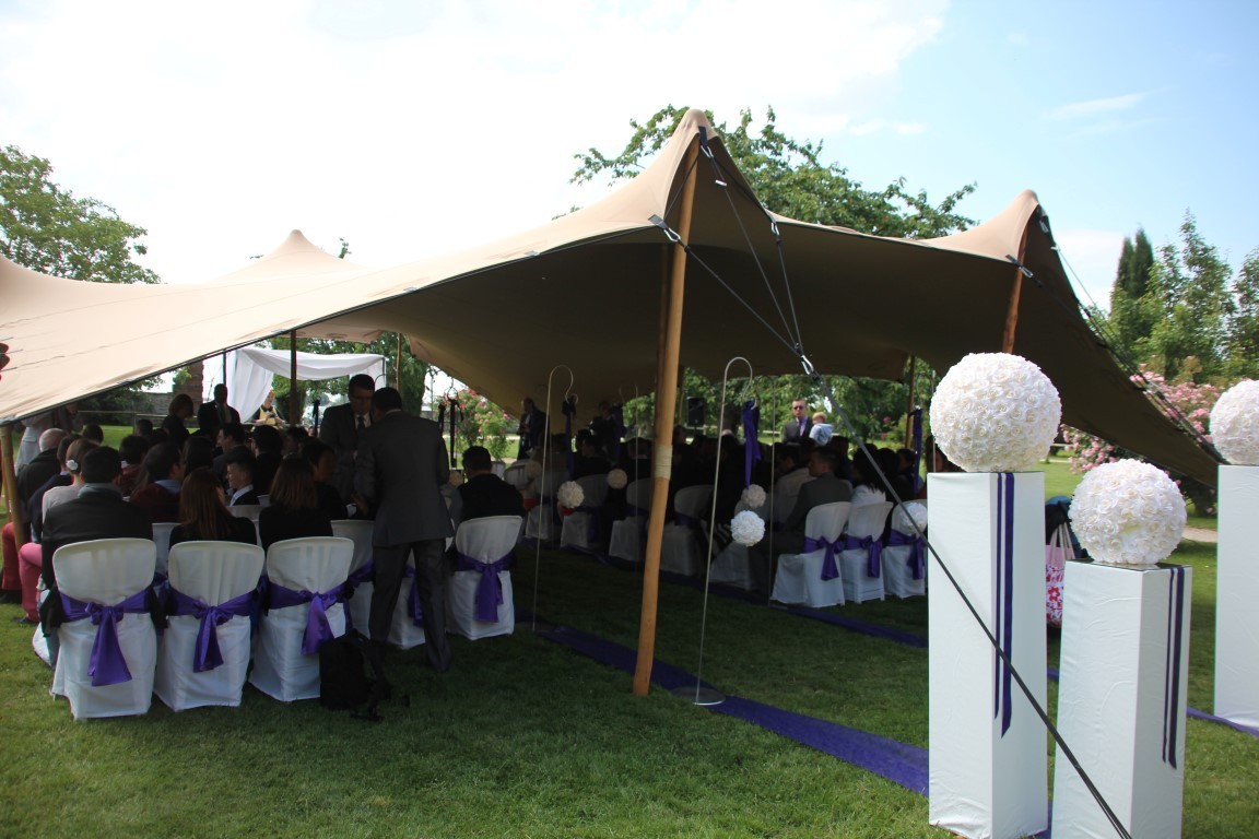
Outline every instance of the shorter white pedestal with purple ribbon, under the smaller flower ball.
[[[1191, 569], [1068, 562], [1058, 730], [1133, 836], [1181, 835]], [[1063, 756], [1054, 833], [1113, 839]]]

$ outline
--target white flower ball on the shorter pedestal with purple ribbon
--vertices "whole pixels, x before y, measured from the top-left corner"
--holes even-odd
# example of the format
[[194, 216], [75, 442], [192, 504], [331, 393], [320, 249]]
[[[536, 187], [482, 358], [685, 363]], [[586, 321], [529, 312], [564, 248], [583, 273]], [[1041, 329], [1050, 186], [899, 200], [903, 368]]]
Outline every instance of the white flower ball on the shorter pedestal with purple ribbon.
[[1185, 532], [1185, 499], [1167, 474], [1139, 460], [1090, 469], [1071, 498], [1071, 527], [1098, 562], [1153, 565]]

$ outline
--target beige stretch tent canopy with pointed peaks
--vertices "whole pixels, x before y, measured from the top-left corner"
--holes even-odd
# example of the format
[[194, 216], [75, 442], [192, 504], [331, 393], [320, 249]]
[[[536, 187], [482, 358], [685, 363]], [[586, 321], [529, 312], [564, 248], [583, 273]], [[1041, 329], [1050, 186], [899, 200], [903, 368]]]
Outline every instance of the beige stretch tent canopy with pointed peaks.
[[[801, 372], [742, 298], [779, 333], [798, 318], [803, 350], [822, 372], [896, 379], [909, 355], [944, 371], [968, 352], [1001, 350], [1017, 279], [1013, 351], [1058, 386], [1064, 421], [1214, 483], [1215, 458], [1128, 381], [1083, 321], [1032, 192], [972, 230], [929, 242], [797, 221], [760, 208], [700, 111], [603, 200], [437, 259], [363, 269], [295, 233], [264, 259], [198, 286], [78, 283], [0, 262], [0, 341], [13, 357], [0, 420], [295, 328], [360, 340], [402, 332], [418, 355], [502, 405], [545, 396], [559, 364], [590, 410], [601, 397], [650, 392], [671, 248], [652, 218], [676, 223], [685, 152], [701, 136], [711, 156], [699, 157], [682, 364], [719, 375], [742, 355], [759, 375]], [[224, 293], [229, 284], [237, 293]]]

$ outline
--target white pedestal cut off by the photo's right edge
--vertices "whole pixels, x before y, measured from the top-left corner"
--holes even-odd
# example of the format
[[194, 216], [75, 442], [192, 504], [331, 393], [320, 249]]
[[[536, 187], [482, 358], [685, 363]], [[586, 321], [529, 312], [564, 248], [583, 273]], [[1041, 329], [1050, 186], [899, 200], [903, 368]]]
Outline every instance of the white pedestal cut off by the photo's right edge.
[[1220, 467], [1215, 716], [1259, 727], [1259, 467]]

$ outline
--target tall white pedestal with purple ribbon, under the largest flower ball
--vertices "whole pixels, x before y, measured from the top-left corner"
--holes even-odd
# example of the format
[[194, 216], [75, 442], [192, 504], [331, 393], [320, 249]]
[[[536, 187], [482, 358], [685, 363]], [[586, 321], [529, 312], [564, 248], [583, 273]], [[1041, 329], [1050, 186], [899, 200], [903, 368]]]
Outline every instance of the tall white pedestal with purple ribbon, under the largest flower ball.
[[[1045, 477], [933, 474], [928, 533], [980, 618], [1045, 704]], [[1045, 727], [934, 556], [930, 823], [963, 836], [1047, 826]]]

